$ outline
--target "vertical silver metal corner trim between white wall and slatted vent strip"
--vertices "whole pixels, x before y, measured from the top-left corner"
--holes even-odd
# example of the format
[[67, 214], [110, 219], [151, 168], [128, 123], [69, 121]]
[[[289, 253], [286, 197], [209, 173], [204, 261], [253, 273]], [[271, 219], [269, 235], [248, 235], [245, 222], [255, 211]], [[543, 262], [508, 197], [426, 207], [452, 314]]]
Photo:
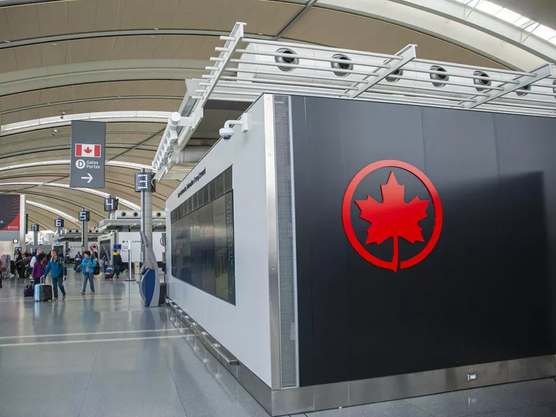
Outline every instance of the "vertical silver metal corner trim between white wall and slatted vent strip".
[[263, 95], [265, 124], [266, 210], [268, 218], [268, 301], [270, 306], [270, 388], [280, 389], [280, 299], [274, 96]]

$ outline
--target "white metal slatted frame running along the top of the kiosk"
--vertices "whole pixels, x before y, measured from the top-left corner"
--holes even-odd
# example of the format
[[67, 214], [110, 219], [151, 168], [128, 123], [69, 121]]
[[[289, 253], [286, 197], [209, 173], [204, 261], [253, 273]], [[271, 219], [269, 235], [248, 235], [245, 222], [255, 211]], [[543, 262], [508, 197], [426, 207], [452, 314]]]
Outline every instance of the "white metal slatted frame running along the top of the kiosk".
[[[213, 65], [206, 67], [209, 74], [204, 74], [202, 80], [188, 80], [188, 92], [180, 111], [186, 107], [191, 110], [187, 117], [172, 113], [152, 162], [154, 170], [158, 171], [156, 179], [160, 180], [172, 172], [170, 170], [175, 161], [172, 161], [172, 154], [181, 152], [187, 145], [203, 118], [203, 109], [209, 99], [252, 102], [263, 93], [270, 92], [556, 117], [556, 76], [551, 64], [542, 65], [532, 72], [497, 70], [418, 59], [416, 45], [413, 44], [397, 54], [388, 55], [245, 38], [244, 26], [243, 23], [236, 23], [229, 36], [220, 37], [225, 44], [215, 48], [219, 55], [210, 58]], [[251, 47], [241, 49], [240, 44]], [[270, 47], [276, 49], [269, 51]], [[260, 59], [292, 57], [291, 54], [281, 53], [280, 48], [310, 50], [315, 55], [296, 55], [299, 59], [293, 63]], [[354, 67], [340, 71], [350, 77], [334, 74], [338, 72], [338, 68], [333, 67], [334, 63], [346, 62], [334, 58], [336, 54], [354, 57], [350, 62]], [[308, 65], [307, 61], [313, 65]], [[330, 67], [322, 66], [323, 62], [330, 63]], [[317, 63], [321, 65], [317, 66]], [[288, 71], [276, 72], [272, 68], [267, 71], [268, 67]], [[442, 70], [436, 70], [437, 67]], [[296, 69], [316, 70], [329, 75], [307, 75], [294, 71]], [[444, 78], [439, 81], [434, 76]], [[450, 77], [467, 82], [450, 81]], [[476, 84], [481, 81], [486, 84]], [[413, 84], [408, 87], [408, 83]], [[507, 97], [512, 92], [518, 94]], [[179, 126], [183, 129], [178, 132]]]

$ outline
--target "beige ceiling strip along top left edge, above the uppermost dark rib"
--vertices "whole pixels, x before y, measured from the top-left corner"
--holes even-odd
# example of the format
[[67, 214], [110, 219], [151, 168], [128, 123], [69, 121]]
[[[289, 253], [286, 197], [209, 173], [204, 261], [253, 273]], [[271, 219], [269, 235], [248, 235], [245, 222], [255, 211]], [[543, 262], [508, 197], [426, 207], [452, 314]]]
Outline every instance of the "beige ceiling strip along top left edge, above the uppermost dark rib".
[[246, 22], [254, 33], [276, 34], [302, 6], [260, 0], [77, 0], [0, 8], [0, 39], [129, 30], [228, 30]]

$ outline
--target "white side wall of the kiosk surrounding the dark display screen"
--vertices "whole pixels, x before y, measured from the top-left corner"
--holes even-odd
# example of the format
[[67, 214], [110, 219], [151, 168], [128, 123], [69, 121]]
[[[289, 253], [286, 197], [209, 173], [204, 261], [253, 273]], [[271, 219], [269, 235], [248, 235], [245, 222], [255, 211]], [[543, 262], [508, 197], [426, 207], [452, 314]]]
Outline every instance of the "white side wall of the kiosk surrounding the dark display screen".
[[[232, 166], [234, 188], [234, 245], [236, 305], [204, 293], [175, 277], [169, 278], [169, 296], [207, 332], [270, 386], [270, 306], [268, 284], [268, 218], [265, 179], [264, 101], [249, 111], [250, 130], [229, 141], [220, 140], [167, 199], [167, 242], [170, 212], [197, 190]], [[178, 190], [199, 172], [206, 174], [186, 193]], [[172, 270], [171, 249], [167, 270]]]

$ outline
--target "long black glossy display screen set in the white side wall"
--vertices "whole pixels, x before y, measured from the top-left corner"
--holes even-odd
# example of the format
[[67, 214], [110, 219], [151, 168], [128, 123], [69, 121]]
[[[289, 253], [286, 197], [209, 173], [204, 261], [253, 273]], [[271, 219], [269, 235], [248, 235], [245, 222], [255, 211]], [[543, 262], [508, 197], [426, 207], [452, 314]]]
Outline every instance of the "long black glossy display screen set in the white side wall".
[[172, 275], [236, 304], [233, 191], [172, 222]]

